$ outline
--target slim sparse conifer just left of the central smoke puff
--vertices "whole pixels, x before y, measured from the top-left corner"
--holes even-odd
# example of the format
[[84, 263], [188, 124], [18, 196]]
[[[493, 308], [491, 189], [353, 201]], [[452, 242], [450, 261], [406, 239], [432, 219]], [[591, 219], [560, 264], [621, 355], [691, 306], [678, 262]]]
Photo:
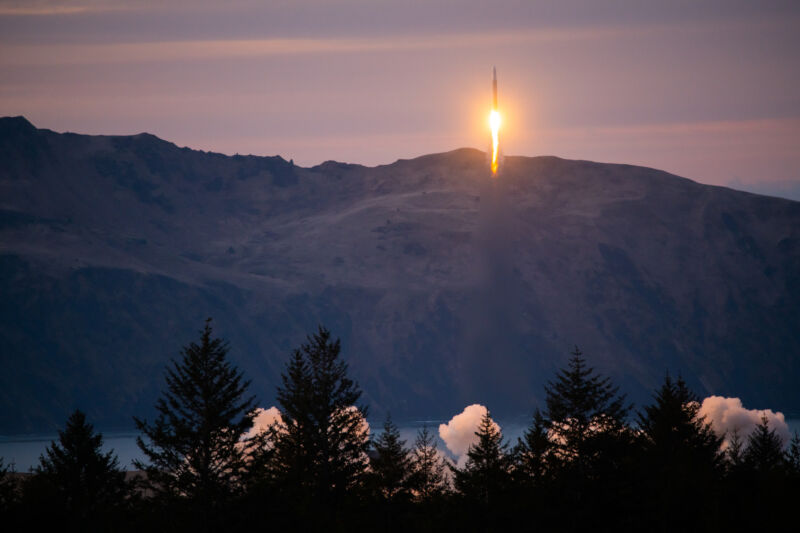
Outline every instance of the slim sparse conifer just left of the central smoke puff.
[[448, 463], [436, 449], [436, 437], [425, 425], [417, 432], [411, 452], [410, 485], [418, 502], [431, 502], [450, 489]]

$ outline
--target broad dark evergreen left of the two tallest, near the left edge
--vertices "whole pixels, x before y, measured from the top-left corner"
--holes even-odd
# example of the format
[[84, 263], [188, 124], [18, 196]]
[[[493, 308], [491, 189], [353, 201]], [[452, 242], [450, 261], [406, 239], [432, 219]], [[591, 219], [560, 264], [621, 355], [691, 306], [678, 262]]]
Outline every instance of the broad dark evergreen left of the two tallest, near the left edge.
[[86, 415], [73, 412], [26, 482], [26, 508], [48, 511], [31, 517], [34, 522], [49, 517], [68, 530], [120, 529], [113, 515], [125, 505], [130, 488], [113, 450], [104, 453], [102, 446], [103, 435], [95, 433]]

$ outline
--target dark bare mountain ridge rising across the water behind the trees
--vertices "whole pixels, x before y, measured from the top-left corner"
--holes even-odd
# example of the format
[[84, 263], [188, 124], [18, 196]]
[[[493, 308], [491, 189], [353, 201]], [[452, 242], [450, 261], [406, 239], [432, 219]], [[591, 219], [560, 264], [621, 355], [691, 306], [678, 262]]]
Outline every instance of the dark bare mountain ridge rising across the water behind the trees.
[[128, 427], [206, 316], [273, 403], [318, 324], [373, 414], [526, 414], [577, 344], [634, 400], [800, 408], [800, 203], [456, 150], [374, 168], [0, 119], [0, 431]]

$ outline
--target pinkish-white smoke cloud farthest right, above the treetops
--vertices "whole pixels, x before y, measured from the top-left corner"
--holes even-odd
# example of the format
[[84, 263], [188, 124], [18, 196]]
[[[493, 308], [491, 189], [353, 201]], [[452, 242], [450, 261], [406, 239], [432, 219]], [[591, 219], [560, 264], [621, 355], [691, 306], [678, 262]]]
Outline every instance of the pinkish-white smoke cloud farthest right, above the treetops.
[[739, 432], [739, 437], [747, 441], [747, 436], [753, 432], [761, 417], [766, 416], [769, 428], [774, 429], [784, 444], [789, 441], [789, 426], [781, 412], [771, 409], [745, 409], [739, 398], [726, 398], [724, 396], [709, 396], [703, 400], [698, 416], [705, 416], [706, 422], [711, 423], [711, 428], [718, 436], [725, 436], [722, 448], [728, 447], [728, 440], [734, 431]]

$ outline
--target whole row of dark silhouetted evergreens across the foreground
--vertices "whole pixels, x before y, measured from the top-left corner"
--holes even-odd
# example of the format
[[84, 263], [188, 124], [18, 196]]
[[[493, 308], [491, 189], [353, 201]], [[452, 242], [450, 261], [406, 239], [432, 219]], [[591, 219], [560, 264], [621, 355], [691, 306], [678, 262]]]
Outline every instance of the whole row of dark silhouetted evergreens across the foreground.
[[255, 435], [250, 382], [206, 321], [165, 371], [154, 420], [135, 418], [143, 460], [124, 472], [75, 411], [29, 475], [0, 459], [0, 523], [70, 531], [738, 531], [797, 524], [800, 438], [766, 417], [723, 446], [699, 399], [669, 375], [634, 411], [576, 348], [516, 443], [491, 414], [463, 464], [423, 427], [390, 417], [371, 436], [341, 345], [320, 327]]

